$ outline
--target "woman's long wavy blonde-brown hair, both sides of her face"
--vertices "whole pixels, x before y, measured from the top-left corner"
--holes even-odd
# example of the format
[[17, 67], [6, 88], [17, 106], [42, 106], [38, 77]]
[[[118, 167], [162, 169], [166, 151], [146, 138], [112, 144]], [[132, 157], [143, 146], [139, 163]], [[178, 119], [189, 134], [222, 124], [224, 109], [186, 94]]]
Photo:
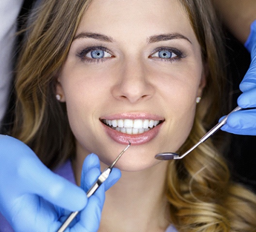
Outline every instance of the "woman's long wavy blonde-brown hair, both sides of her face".
[[[16, 66], [16, 121], [11, 135], [30, 145], [52, 169], [75, 155], [65, 104], [55, 99], [56, 76], [90, 1], [42, 0], [30, 16]], [[207, 86], [192, 131], [178, 151], [182, 153], [216, 122], [226, 91], [225, 49], [210, 1], [179, 1], [208, 64]], [[184, 159], [169, 162], [166, 195], [170, 223], [179, 232], [256, 232], [256, 195], [231, 181], [218, 150], [209, 139]]]

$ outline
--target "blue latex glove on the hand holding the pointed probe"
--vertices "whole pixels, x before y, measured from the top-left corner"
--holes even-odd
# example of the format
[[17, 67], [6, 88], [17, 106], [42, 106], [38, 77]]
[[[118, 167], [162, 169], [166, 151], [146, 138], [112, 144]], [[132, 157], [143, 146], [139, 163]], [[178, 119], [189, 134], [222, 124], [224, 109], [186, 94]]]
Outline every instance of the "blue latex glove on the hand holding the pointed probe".
[[105, 190], [121, 172], [113, 168], [109, 178], [87, 199], [86, 191], [99, 174], [98, 157], [91, 154], [84, 161], [79, 188], [51, 172], [27, 145], [0, 135], [0, 213], [16, 232], [56, 232], [71, 211], [80, 210], [80, 219], [66, 232], [96, 232]]

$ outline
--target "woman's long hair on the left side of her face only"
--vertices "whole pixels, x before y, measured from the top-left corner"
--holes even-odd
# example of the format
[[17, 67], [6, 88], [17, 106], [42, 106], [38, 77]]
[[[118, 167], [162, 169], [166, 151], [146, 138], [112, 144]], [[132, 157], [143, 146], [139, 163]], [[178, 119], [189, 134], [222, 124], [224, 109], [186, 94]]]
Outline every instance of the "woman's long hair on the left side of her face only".
[[91, 0], [42, 0], [30, 15], [16, 66], [13, 136], [54, 168], [74, 156], [65, 105], [56, 101], [56, 76]]

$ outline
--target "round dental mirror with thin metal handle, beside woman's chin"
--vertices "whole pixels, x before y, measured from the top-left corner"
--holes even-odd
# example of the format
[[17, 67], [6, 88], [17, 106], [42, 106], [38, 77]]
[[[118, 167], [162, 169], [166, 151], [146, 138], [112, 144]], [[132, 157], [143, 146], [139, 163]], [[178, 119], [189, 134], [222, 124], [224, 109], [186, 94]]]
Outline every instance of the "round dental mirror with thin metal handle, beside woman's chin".
[[177, 153], [173, 152], [165, 152], [165, 153], [159, 153], [155, 156], [158, 160], [180, 160], [184, 158], [186, 155], [188, 155], [190, 152], [192, 152], [193, 149], [195, 149], [200, 144], [204, 143], [210, 136], [212, 136], [215, 132], [219, 131], [220, 128], [226, 123], [226, 120], [228, 116], [235, 112], [239, 111], [242, 108], [240, 106], [237, 106], [234, 110], [232, 110], [228, 115], [226, 115], [219, 123], [217, 123], [210, 131], [208, 131], [197, 144], [193, 145], [189, 150], [187, 150], [183, 155], [179, 156]]

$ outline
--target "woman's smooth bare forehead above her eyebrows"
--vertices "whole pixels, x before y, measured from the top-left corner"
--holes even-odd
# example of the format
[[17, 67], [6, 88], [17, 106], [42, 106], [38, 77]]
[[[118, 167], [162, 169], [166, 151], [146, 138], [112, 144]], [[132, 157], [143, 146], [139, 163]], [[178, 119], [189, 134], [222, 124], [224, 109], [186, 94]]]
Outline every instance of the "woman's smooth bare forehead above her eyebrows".
[[77, 34], [82, 31], [138, 38], [173, 32], [195, 38], [179, 0], [92, 0]]

